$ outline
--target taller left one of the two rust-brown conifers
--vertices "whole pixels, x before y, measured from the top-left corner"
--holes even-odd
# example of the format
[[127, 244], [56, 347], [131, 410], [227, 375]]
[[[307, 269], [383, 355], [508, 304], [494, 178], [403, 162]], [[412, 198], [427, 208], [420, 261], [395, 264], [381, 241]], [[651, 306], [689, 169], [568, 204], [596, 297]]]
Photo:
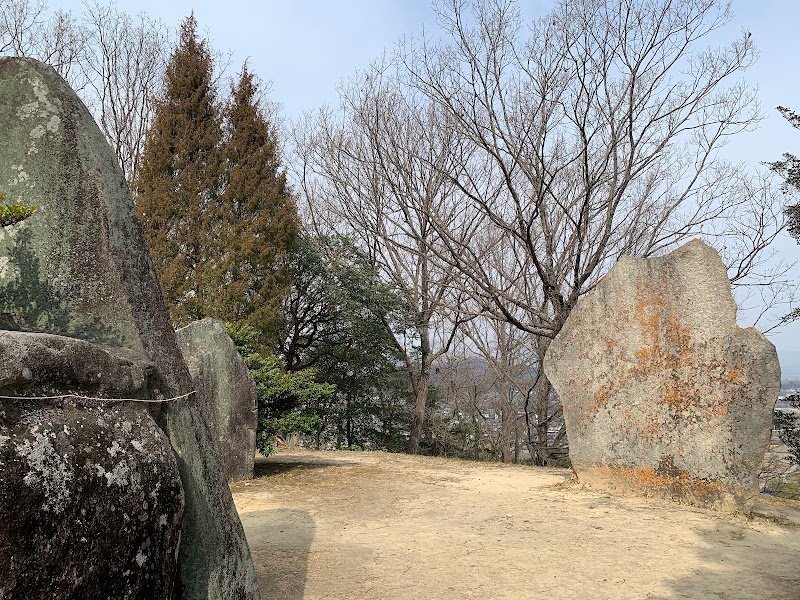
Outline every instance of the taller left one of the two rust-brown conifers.
[[211, 52], [191, 15], [167, 66], [133, 185], [158, 281], [178, 325], [208, 314], [210, 280], [220, 262], [212, 242], [222, 131], [212, 73]]

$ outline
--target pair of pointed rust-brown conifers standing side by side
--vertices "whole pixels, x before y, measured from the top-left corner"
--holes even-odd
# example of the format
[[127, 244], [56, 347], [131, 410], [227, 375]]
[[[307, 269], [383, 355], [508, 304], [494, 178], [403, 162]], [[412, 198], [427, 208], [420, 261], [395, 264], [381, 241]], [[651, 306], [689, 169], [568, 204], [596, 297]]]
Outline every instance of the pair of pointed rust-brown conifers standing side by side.
[[257, 79], [245, 65], [230, 99], [218, 101], [196, 27], [193, 16], [184, 21], [167, 66], [136, 204], [173, 322], [243, 321], [274, 345], [297, 209]]

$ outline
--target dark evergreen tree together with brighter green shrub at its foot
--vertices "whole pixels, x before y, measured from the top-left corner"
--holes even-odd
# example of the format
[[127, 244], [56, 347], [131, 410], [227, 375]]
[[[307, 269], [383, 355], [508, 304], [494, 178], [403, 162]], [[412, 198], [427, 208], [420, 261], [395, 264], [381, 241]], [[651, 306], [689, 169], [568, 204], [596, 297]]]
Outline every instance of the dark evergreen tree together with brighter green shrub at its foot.
[[259, 450], [292, 433], [317, 446], [402, 449], [408, 392], [388, 330], [403, 326], [402, 299], [347, 238], [302, 238], [288, 265], [282, 358], [252, 325], [228, 325], [256, 380]]

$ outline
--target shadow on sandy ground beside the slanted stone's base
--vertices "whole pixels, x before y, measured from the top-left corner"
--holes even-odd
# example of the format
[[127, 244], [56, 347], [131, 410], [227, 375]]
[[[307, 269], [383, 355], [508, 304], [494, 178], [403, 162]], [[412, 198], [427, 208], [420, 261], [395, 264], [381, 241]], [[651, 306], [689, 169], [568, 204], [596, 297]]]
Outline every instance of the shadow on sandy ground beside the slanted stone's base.
[[242, 515], [262, 600], [302, 600], [316, 526], [305, 510]]

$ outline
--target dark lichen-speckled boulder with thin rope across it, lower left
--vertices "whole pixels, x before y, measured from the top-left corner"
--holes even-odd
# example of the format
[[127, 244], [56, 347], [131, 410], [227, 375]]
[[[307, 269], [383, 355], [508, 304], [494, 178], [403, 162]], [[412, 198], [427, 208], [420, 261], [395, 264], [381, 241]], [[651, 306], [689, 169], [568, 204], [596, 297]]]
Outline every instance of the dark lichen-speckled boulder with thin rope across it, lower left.
[[[0, 395], [144, 398], [131, 351], [0, 332]], [[0, 398], [0, 598], [172, 597], [183, 488], [142, 403]]]

